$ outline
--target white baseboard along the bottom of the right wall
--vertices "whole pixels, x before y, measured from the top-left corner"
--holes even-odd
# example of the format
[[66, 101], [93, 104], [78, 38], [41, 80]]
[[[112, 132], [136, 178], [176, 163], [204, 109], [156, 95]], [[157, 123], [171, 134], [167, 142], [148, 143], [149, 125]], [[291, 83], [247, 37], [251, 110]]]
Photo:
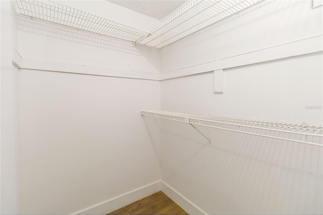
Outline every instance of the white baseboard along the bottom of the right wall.
[[164, 181], [161, 181], [161, 191], [182, 207], [188, 214], [207, 214]]

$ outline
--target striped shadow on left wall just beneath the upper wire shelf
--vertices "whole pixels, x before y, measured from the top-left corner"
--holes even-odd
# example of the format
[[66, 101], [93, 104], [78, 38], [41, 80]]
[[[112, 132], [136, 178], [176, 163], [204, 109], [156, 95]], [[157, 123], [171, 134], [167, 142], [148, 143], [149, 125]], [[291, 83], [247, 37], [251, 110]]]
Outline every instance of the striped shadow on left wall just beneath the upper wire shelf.
[[141, 56], [141, 53], [132, 42], [77, 30], [72, 27], [30, 18], [21, 14], [17, 14], [17, 28], [22, 31]]

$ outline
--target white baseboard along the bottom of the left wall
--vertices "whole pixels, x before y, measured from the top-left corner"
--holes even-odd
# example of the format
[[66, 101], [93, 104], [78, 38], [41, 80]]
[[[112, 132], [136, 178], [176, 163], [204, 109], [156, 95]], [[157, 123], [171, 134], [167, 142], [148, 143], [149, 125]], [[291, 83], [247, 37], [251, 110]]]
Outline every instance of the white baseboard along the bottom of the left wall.
[[73, 214], [106, 214], [119, 209], [125, 205], [132, 202], [138, 201], [146, 196], [149, 196], [155, 192], [160, 191], [160, 181], [148, 184], [144, 187], [140, 187], [136, 190], [130, 191], [128, 193], [122, 194], [115, 198], [109, 199], [105, 202], [93, 205], [81, 211]]

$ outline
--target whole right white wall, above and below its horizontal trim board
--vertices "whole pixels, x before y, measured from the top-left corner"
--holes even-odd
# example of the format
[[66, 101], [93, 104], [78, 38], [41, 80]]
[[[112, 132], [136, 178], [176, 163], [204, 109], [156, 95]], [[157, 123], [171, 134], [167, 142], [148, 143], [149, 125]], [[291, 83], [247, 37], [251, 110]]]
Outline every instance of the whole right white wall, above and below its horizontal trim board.
[[[162, 48], [161, 72], [321, 34], [322, 10], [310, 1], [265, 2]], [[322, 109], [306, 106], [323, 104], [322, 63], [319, 51], [225, 69], [223, 94], [213, 92], [212, 72], [163, 80], [161, 109], [321, 126]], [[323, 212], [320, 147], [198, 128], [211, 145], [187, 124], [162, 121], [161, 180], [201, 212]]]

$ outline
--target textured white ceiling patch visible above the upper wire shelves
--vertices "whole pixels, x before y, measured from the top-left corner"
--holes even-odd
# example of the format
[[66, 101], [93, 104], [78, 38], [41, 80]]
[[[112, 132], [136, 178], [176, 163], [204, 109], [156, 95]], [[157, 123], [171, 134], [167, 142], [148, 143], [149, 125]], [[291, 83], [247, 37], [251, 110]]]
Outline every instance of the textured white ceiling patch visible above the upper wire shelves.
[[109, 1], [111, 3], [120, 5], [138, 13], [150, 16], [160, 20], [164, 18], [176, 8], [182, 5], [185, 1]]

